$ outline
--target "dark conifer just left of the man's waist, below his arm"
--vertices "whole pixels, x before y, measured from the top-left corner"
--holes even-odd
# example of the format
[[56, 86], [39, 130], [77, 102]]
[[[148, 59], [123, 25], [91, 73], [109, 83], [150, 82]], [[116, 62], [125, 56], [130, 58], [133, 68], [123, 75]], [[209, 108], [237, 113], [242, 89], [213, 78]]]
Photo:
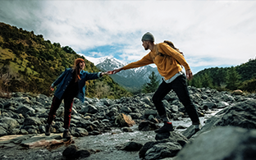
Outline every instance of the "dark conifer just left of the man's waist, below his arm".
[[142, 87], [143, 93], [152, 93], [158, 89], [159, 80], [158, 76], [152, 71], [151, 75], [149, 75], [149, 83], [145, 83]]

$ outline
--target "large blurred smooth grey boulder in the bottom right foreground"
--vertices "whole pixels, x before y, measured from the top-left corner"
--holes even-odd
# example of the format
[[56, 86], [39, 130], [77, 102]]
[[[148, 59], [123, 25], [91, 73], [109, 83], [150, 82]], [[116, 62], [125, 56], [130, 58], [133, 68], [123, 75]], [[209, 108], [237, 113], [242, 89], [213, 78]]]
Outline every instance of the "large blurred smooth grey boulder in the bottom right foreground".
[[255, 149], [256, 130], [218, 126], [186, 144], [176, 160], [253, 160]]

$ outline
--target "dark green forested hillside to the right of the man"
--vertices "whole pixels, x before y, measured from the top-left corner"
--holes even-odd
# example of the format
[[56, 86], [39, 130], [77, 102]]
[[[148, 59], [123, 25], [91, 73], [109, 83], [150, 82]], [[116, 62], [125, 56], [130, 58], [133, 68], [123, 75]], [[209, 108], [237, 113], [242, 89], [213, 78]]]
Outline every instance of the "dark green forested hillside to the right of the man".
[[249, 59], [238, 66], [214, 67], [199, 71], [189, 83], [195, 87], [210, 87], [218, 90], [241, 89], [256, 91], [256, 59]]

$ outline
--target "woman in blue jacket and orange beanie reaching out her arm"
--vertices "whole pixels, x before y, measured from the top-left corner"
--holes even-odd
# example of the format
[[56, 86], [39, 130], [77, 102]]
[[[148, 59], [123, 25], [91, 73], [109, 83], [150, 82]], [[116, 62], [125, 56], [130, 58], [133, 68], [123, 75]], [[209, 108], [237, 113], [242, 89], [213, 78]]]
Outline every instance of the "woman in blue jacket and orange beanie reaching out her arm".
[[111, 74], [110, 71], [98, 72], [98, 73], [88, 73], [83, 71], [85, 68], [85, 60], [82, 58], [75, 59], [75, 64], [73, 68], [66, 69], [63, 71], [57, 80], [51, 85], [51, 90], [55, 86], [57, 89], [54, 93], [53, 103], [48, 113], [47, 126], [45, 127], [45, 135], [50, 135], [51, 125], [53, 119], [56, 115], [57, 108], [62, 103], [64, 99], [64, 133], [63, 139], [70, 139], [71, 135], [69, 133], [69, 127], [71, 124], [71, 111], [74, 98], [79, 98], [82, 103], [85, 102], [85, 81], [98, 79], [103, 75]]

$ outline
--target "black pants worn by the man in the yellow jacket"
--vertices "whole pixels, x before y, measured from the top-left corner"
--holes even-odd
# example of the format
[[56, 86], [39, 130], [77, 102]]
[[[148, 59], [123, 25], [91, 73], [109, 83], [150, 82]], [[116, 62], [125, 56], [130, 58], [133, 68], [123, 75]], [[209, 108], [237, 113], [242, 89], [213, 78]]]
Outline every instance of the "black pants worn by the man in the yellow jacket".
[[176, 77], [171, 83], [167, 84], [164, 80], [162, 84], [159, 85], [158, 90], [153, 94], [153, 103], [158, 110], [159, 116], [167, 115], [166, 109], [163, 106], [162, 98], [164, 98], [171, 89], [177, 94], [178, 98], [180, 99], [181, 103], [184, 105], [186, 112], [188, 112], [190, 119], [193, 125], [199, 125], [199, 116], [194, 107], [194, 103], [192, 103], [190, 94], [188, 91], [188, 87], [186, 84], [186, 77], [185, 75], [180, 75]]

